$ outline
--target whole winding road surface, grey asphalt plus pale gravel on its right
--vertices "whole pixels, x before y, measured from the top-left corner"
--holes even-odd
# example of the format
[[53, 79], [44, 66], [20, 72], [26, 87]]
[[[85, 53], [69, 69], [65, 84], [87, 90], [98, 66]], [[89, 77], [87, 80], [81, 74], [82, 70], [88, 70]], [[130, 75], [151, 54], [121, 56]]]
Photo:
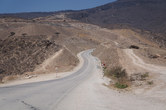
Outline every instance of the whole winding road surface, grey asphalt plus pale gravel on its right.
[[0, 87], [0, 110], [166, 110], [165, 101], [109, 89], [93, 50], [81, 53], [83, 64], [56, 80]]

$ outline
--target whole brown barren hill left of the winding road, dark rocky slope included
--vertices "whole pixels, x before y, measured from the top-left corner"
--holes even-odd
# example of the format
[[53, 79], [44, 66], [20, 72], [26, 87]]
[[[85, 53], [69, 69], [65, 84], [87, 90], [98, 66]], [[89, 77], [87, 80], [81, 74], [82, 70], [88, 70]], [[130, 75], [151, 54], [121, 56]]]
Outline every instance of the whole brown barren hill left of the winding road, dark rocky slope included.
[[[73, 69], [78, 64], [78, 52], [99, 44], [80, 35], [84, 36], [86, 32], [70, 26], [69, 22], [50, 22], [47, 18], [37, 22], [1, 18], [0, 81], [15, 79], [25, 73], [55, 73]], [[11, 77], [5, 78], [8, 76]]]

